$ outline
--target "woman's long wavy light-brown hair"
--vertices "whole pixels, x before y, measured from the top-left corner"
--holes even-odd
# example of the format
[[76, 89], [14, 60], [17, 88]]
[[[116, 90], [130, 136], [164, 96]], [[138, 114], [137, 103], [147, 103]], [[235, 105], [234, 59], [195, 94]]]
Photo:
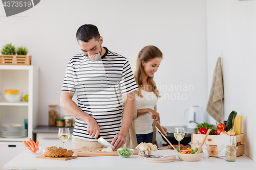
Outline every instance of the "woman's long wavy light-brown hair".
[[[154, 46], [154, 45], [145, 46], [144, 48], [141, 49], [141, 51], [138, 54], [137, 61], [136, 61], [136, 70], [134, 72], [134, 77], [135, 77], [136, 83], [137, 83], [138, 88], [139, 88], [136, 91], [136, 93], [140, 97], [143, 97], [143, 95], [141, 94], [141, 89], [143, 88], [143, 83], [142, 83], [142, 80], [141, 80], [143, 66], [142, 66], [141, 62], [144, 61], [145, 63], [147, 63], [148, 61], [150, 61], [154, 58], [157, 58], [157, 57], [163, 58], [163, 54], [159, 50], [159, 48]], [[150, 85], [151, 91], [153, 91], [155, 93], [157, 98], [160, 98], [159, 91], [157, 90], [156, 83], [153, 79], [154, 79], [154, 76], [153, 77], [148, 76], [146, 81], [147, 81], [148, 85]]]

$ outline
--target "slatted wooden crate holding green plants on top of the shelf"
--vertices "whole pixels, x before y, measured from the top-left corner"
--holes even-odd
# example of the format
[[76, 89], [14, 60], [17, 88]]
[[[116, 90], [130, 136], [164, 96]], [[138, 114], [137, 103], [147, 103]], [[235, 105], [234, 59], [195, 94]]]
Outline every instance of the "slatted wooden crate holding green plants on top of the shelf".
[[31, 56], [0, 55], [0, 64], [4, 65], [31, 65]]

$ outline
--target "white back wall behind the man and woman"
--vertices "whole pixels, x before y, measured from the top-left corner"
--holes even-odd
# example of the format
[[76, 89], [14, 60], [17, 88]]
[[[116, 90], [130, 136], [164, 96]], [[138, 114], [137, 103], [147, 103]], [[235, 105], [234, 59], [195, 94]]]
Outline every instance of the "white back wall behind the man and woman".
[[[163, 99], [158, 103], [158, 111], [163, 126], [185, 125], [182, 112], [187, 107], [206, 108], [204, 0], [45, 0], [11, 17], [5, 17], [0, 5], [0, 16], [0, 47], [9, 42], [26, 45], [32, 65], [39, 66], [38, 125], [48, 125], [48, 105], [59, 104], [68, 60], [80, 53], [75, 34], [85, 23], [96, 25], [103, 45], [128, 58], [133, 70], [142, 47], [158, 46], [164, 58], [155, 75], [159, 89], [160, 85], [193, 85], [194, 90], [190, 87], [190, 91], [160, 89]], [[186, 100], [181, 100], [181, 94]], [[63, 114], [66, 112], [61, 109]]]

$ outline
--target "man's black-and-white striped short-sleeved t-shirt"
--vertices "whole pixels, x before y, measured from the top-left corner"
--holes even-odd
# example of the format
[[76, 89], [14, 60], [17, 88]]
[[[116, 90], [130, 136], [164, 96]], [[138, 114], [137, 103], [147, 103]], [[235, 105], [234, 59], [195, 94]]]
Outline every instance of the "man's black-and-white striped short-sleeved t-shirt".
[[[122, 95], [138, 89], [128, 60], [104, 47], [106, 53], [91, 61], [82, 53], [68, 63], [61, 91], [77, 93], [79, 108], [91, 115], [100, 127], [100, 136], [112, 141], [119, 133]], [[87, 123], [76, 118], [73, 136], [97, 141], [87, 132]]]

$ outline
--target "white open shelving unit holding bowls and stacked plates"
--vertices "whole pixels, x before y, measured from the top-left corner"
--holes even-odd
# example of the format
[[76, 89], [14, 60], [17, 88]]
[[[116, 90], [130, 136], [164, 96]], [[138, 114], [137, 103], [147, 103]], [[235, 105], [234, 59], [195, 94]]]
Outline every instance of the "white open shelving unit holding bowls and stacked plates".
[[[18, 89], [23, 96], [29, 94], [29, 102], [9, 103], [5, 101], [6, 89]], [[0, 129], [3, 124], [23, 124], [28, 119], [28, 137], [4, 138], [0, 141], [23, 141], [32, 138], [37, 126], [38, 67], [33, 65], [0, 65]]]

